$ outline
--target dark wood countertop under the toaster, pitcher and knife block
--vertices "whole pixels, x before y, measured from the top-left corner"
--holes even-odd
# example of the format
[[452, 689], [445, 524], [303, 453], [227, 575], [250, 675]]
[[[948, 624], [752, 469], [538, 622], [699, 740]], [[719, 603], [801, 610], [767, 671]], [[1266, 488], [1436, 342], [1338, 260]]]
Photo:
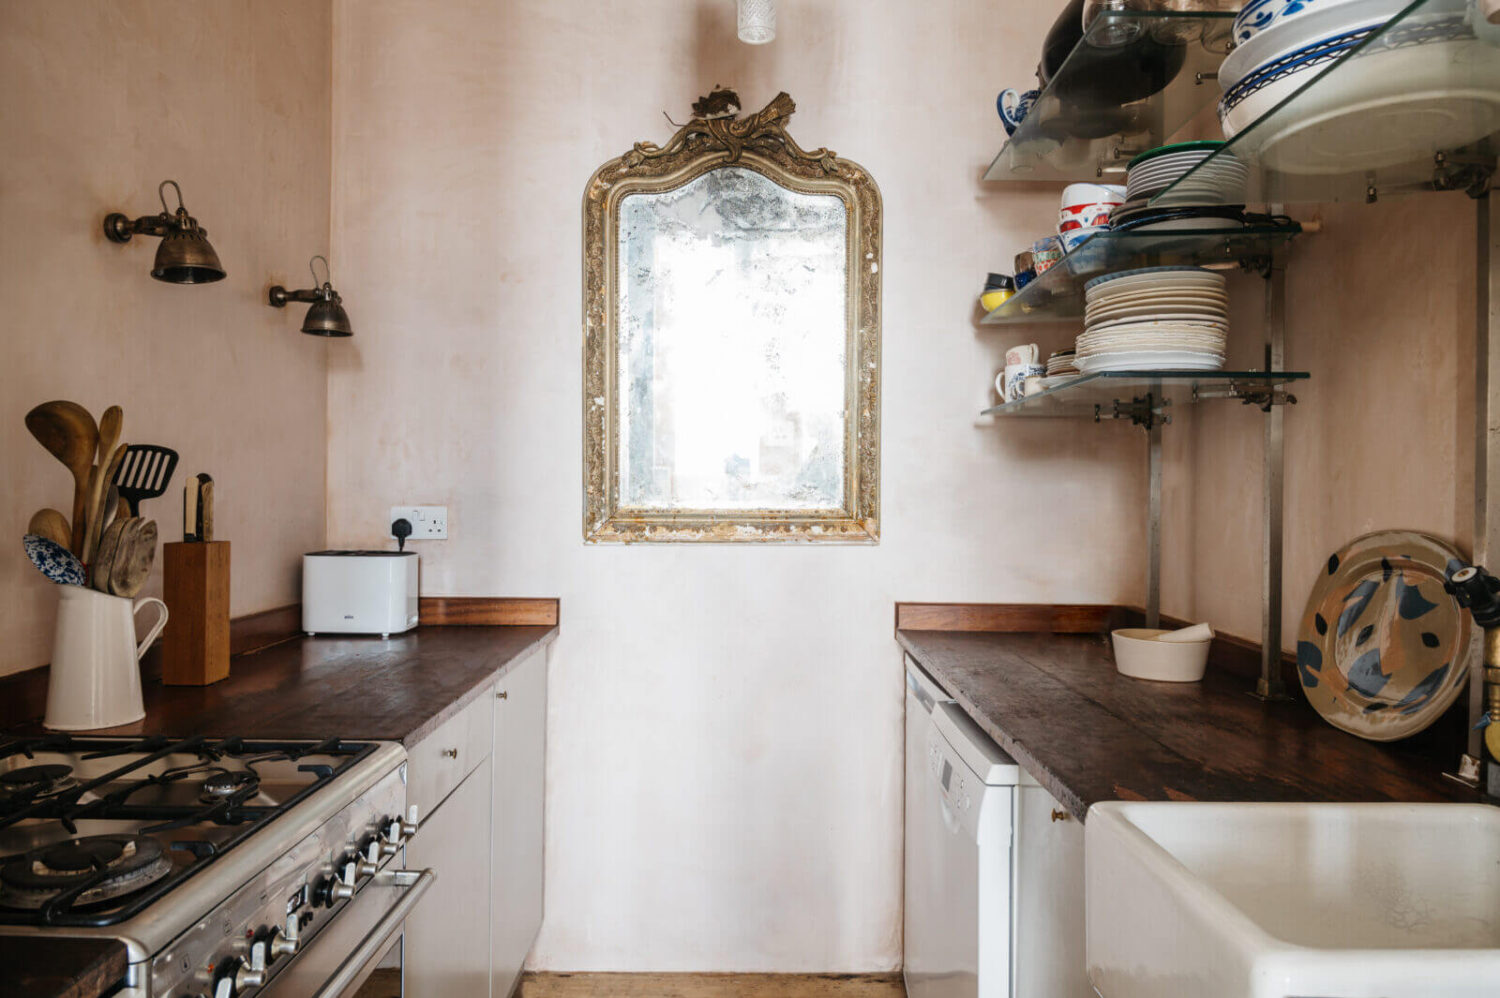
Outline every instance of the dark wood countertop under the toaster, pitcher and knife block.
[[[236, 656], [213, 686], [147, 678], [146, 717], [93, 734], [386, 738], [414, 744], [554, 626], [422, 626], [388, 639], [292, 638]], [[0, 728], [42, 731], [46, 671], [0, 680]]]

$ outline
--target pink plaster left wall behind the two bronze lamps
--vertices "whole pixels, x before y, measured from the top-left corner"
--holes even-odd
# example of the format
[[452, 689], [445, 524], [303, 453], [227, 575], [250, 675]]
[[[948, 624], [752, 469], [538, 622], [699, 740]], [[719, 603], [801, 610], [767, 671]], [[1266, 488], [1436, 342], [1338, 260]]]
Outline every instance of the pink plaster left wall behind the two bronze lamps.
[[[324, 533], [327, 347], [264, 294], [327, 252], [328, 48], [320, 2], [0, 5], [0, 672], [51, 651], [57, 596], [21, 552], [32, 513], [72, 501], [22, 425], [46, 399], [120, 404], [128, 441], [182, 453], [176, 485], [214, 476], [232, 614], [297, 600]], [[158, 212], [166, 177], [225, 281], [165, 285], [156, 240], [105, 242], [105, 213]], [[144, 512], [174, 540], [180, 510]]]

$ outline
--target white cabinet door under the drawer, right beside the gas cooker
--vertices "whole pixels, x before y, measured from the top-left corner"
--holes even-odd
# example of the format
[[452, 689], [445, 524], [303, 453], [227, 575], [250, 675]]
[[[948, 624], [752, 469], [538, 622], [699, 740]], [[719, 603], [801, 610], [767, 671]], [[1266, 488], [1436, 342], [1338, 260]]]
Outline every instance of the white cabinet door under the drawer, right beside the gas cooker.
[[406, 918], [405, 998], [489, 995], [492, 762], [480, 762], [406, 845], [406, 867], [430, 866], [438, 879]]

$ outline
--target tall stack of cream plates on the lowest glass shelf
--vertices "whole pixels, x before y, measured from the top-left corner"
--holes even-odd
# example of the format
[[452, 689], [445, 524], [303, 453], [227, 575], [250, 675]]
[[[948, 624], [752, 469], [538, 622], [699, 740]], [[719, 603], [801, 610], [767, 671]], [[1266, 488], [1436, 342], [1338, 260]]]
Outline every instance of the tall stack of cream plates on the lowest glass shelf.
[[1202, 267], [1144, 267], [1084, 285], [1077, 365], [1100, 371], [1218, 371], [1228, 338], [1224, 278]]

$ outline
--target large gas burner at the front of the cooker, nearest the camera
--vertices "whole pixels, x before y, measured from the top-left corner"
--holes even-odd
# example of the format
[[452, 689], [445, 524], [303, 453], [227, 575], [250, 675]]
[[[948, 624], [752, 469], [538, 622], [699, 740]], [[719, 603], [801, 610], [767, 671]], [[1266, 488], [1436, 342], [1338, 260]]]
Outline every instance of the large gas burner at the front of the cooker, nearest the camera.
[[80, 890], [74, 908], [96, 905], [154, 884], [172, 863], [156, 839], [96, 834], [54, 842], [0, 866], [0, 905], [40, 908], [52, 897]]

